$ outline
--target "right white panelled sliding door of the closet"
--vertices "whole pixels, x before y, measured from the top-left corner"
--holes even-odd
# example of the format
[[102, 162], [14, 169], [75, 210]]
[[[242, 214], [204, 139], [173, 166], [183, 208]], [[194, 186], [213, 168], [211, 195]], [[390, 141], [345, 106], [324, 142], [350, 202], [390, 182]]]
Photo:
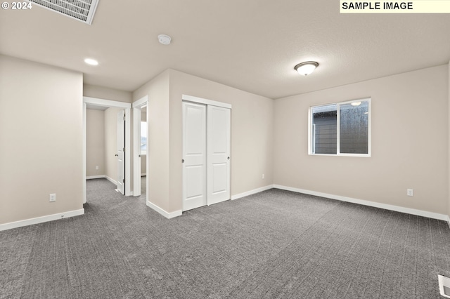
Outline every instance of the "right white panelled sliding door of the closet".
[[207, 204], [230, 199], [231, 109], [207, 106]]

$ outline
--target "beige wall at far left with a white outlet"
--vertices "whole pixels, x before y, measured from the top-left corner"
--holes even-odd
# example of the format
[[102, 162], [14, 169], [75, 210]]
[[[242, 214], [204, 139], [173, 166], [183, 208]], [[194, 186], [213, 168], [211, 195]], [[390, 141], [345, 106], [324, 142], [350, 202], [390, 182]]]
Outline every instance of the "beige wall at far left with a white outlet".
[[0, 55], [0, 224], [83, 208], [82, 84]]

